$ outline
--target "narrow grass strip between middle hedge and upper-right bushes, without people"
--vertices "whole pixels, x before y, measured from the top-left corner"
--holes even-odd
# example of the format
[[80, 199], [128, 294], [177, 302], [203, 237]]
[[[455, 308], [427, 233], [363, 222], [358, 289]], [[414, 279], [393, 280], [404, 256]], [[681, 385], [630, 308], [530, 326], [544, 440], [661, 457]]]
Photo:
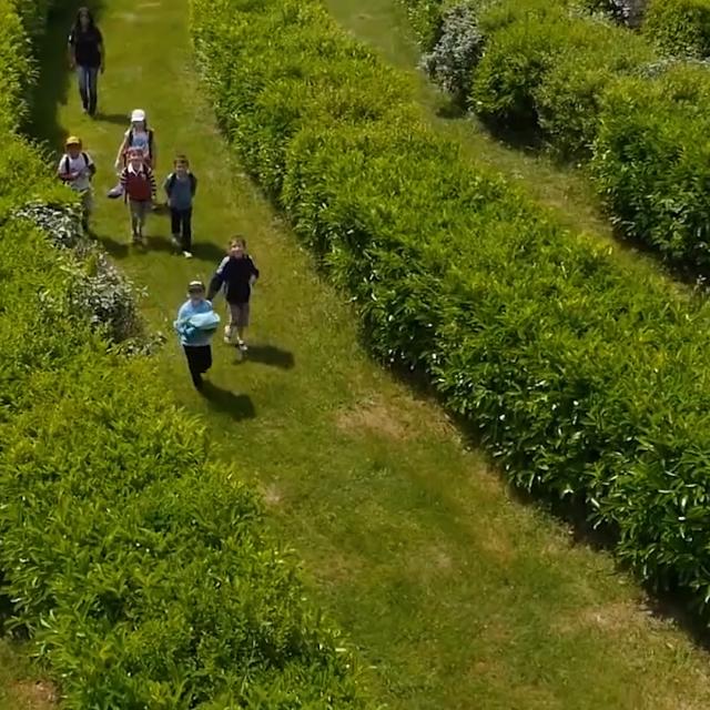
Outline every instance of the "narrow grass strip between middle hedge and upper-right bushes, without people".
[[639, 251], [615, 237], [584, 165], [556, 161], [534, 146], [532, 135], [513, 135], [509, 142], [496, 138], [476, 116], [463, 113], [417, 69], [422, 49], [400, 0], [324, 0], [324, 3], [344, 29], [409, 74], [425, 120], [458, 143], [463, 154], [476, 165], [488, 165], [505, 174], [536, 202], [549, 207], [561, 224], [609, 247], [617, 258], [641, 270], [647, 278], [687, 293], [686, 285], [657, 254]]

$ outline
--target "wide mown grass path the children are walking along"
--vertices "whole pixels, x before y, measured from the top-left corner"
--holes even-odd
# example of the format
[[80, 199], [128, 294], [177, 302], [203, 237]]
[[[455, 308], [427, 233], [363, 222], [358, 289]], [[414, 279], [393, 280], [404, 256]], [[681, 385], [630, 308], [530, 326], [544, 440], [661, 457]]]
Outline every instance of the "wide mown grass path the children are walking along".
[[[217, 341], [203, 399], [171, 337], [162, 377], [203, 415], [214, 455], [264, 491], [375, 694], [403, 710], [708, 707], [707, 655], [643, 611], [609, 556], [513, 499], [435, 405], [367, 358], [346, 298], [227, 156], [192, 68], [187, 0], [97, 10], [108, 49], [98, 120], [81, 114], [64, 68], [68, 12], [47, 40], [34, 132], [55, 151], [68, 133], [84, 139], [99, 166], [95, 232], [148, 288], [153, 328], [170, 333], [186, 283], [210, 276], [233, 233], [247, 236], [263, 275], [248, 359]], [[200, 179], [191, 261], [171, 253], [164, 216], [149, 222], [148, 250], [128, 247], [125, 210], [103, 196], [134, 108], [156, 131], [159, 176], [185, 152]]]

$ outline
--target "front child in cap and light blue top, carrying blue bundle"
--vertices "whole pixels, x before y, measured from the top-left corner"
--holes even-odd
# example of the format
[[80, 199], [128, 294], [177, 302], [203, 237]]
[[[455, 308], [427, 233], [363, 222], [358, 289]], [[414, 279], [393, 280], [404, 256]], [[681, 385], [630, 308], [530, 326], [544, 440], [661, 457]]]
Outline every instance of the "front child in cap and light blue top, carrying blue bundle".
[[220, 316], [204, 297], [204, 284], [201, 281], [191, 281], [187, 286], [187, 301], [180, 307], [174, 327], [187, 358], [192, 384], [199, 392], [203, 388], [202, 376], [212, 367], [210, 341], [219, 324]]

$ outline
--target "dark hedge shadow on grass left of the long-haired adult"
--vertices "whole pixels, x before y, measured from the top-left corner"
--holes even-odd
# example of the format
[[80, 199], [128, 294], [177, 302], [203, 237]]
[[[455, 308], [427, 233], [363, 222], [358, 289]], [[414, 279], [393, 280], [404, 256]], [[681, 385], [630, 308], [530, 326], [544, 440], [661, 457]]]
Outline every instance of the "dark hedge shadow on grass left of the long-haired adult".
[[[69, 69], [67, 38], [77, 10], [84, 4], [90, 7], [99, 21], [103, 4], [101, 0], [65, 0], [50, 11], [48, 30], [37, 44], [39, 81], [30, 98], [31, 113], [26, 131], [52, 152], [61, 150], [68, 135], [59, 122], [60, 106], [68, 101], [80, 101], [74, 74]], [[101, 85], [101, 80], [99, 82]], [[128, 123], [126, 119], [124, 123]]]

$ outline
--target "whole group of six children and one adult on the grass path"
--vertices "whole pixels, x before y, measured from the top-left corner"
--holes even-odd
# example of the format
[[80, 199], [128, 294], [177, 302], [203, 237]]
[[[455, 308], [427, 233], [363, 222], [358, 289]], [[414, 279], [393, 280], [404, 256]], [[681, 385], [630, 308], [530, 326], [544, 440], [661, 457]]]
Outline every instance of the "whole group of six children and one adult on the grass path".
[[[77, 71], [79, 95], [84, 113], [97, 116], [99, 103], [99, 74], [105, 68], [103, 37], [88, 8], [80, 8], [69, 34], [69, 63]], [[89, 229], [93, 211], [92, 180], [97, 166], [84, 150], [82, 140], [70, 135], [64, 143], [64, 154], [59, 161], [58, 175], [71, 190], [81, 195], [82, 224]], [[131, 241], [144, 245], [144, 229], [156, 203], [155, 170], [158, 149], [153, 129], [148, 125], [145, 111], [135, 109], [130, 125], [123, 134], [115, 158], [118, 184], [110, 199], [123, 197], [129, 207]], [[185, 258], [192, 257], [192, 211], [197, 190], [197, 178], [190, 170], [190, 161], [179, 154], [173, 170], [163, 182], [165, 206], [170, 210], [173, 245]], [[235, 344], [243, 355], [247, 351], [246, 328], [250, 324], [252, 286], [260, 276], [254, 261], [246, 251], [246, 241], [234, 236], [225, 257], [220, 262], [209, 288], [200, 281], [191, 281], [187, 300], [182, 304], [174, 328], [187, 359], [192, 382], [197, 390], [203, 388], [203, 375], [212, 366], [211, 341], [220, 325], [220, 316], [212, 307], [212, 300], [220, 293], [229, 307], [229, 323], [224, 328], [224, 342]], [[235, 339], [236, 338], [236, 339]]]

